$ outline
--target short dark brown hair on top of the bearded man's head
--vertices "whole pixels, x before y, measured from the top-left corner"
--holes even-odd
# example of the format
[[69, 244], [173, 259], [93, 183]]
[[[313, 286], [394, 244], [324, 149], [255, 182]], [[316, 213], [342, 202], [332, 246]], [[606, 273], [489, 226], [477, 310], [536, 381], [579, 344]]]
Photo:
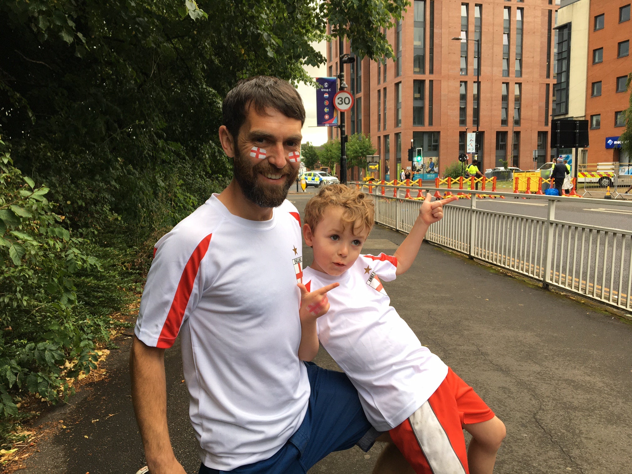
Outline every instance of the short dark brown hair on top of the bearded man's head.
[[270, 76], [242, 79], [226, 94], [222, 104], [222, 124], [236, 140], [248, 109], [254, 107], [259, 114], [265, 109], [276, 109], [284, 116], [305, 123], [305, 107], [298, 91], [287, 81]]

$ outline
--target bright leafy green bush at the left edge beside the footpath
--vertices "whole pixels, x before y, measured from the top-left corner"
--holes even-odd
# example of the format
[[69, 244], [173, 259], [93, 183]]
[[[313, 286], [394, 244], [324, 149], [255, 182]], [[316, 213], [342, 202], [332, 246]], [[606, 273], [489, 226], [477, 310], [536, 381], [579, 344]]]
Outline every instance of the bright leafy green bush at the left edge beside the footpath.
[[[52, 212], [48, 188], [23, 176], [0, 141], [0, 418], [17, 415], [13, 394], [57, 401], [68, 377], [94, 368], [94, 324], [74, 276], [100, 271], [83, 239]], [[98, 329], [98, 327], [97, 327]]]

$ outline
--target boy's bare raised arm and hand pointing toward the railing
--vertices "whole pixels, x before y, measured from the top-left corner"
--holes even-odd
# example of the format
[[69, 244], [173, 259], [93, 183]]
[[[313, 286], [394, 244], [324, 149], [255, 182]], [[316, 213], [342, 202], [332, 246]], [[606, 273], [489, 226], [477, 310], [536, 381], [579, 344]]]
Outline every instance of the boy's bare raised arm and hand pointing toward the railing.
[[401, 275], [410, 268], [410, 265], [415, 261], [419, 247], [422, 245], [423, 236], [425, 236], [428, 227], [434, 222], [441, 221], [443, 217], [443, 205], [453, 202], [458, 197], [453, 196], [447, 199], [441, 199], [431, 202], [432, 196], [429, 192], [426, 193], [426, 198], [423, 201], [422, 207], [419, 210], [419, 216], [415, 221], [415, 225], [410, 230], [410, 233], [398, 249], [395, 252], [394, 257], [397, 258], [397, 270], [396, 275]]

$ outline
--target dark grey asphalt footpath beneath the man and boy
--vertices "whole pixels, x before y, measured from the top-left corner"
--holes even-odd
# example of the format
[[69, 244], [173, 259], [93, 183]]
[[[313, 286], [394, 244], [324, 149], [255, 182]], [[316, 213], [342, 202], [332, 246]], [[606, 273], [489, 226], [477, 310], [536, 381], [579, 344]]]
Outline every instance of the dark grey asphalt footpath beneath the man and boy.
[[[289, 198], [303, 210], [310, 195]], [[365, 252], [392, 253], [403, 239], [377, 226]], [[310, 248], [303, 255], [311, 261]], [[422, 343], [505, 422], [495, 473], [632, 473], [629, 322], [427, 244], [385, 287]], [[127, 372], [130, 340], [107, 360], [108, 380], [40, 420], [57, 428], [63, 420], [66, 428], [42, 437], [40, 453], [20, 472], [133, 474], [143, 466]], [[322, 349], [316, 362], [336, 368]], [[179, 344], [167, 351], [166, 367], [176, 456], [197, 473]], [[334, 453], [310, 473], [368, 474], [380, 449]]]

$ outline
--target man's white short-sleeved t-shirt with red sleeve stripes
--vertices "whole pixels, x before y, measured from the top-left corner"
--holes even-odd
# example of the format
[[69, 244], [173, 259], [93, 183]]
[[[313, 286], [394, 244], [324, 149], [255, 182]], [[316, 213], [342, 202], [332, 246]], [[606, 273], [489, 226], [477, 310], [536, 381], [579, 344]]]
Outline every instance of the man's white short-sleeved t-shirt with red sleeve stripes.
[[209, 468], [270, 458], [303, 421], [301, 250], [289, 201], [269, 221], [249, 221], [216, 195], [155, 245], [135, 334], [159, 348], [181, 335], [191, 424]]

